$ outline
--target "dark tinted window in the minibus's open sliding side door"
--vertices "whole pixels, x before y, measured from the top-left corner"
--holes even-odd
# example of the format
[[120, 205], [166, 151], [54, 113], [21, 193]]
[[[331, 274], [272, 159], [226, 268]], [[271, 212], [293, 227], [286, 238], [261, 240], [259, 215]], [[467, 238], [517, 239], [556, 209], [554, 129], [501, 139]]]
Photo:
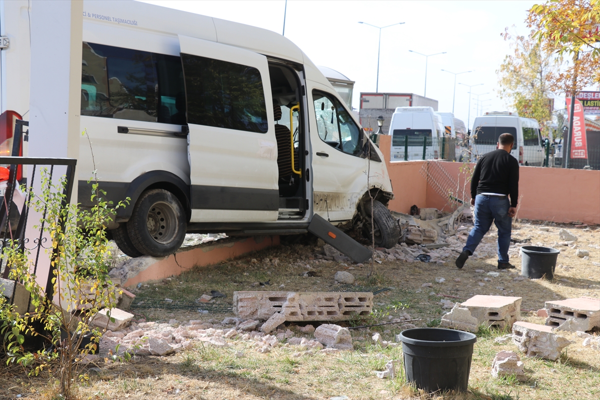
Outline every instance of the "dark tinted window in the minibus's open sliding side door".
[[266, 133], [265, 92], [259, 70], [183, 53], [181, 61], [189, 124]]

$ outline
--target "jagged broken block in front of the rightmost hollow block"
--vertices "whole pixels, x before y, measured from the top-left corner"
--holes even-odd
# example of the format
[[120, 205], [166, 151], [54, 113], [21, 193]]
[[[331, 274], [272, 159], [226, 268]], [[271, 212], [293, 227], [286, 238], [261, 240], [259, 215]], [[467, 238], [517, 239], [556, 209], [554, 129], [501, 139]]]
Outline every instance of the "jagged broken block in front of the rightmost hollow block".
[[563, 348], [571, 344], [566, 338], [552, 333], [546, 325], [517, 321], [512, 326], [512, 342], [527, 357], [556, 360]]

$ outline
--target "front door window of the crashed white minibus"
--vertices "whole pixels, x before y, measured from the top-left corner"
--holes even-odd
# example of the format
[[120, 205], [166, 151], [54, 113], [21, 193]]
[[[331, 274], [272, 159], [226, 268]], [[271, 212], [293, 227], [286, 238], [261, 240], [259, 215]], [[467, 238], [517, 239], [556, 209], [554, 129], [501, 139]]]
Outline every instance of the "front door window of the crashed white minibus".
[[320, 92], [313, 93], [317, 131], [323, 142], [347, 154], [361, 152], [361, 130], [340, 101]]

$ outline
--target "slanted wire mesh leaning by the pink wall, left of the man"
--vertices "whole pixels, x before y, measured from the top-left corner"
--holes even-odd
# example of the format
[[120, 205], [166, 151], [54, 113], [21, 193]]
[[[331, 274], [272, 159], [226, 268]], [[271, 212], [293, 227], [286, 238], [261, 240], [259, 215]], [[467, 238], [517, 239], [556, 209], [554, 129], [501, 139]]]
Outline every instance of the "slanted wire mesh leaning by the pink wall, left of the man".
[[461, 184], [458, 177], [451, 176], [439, 161], [427, 161], [419, 173], [427, 179], [427, 184], [446, 201], [452, 210], [469, 202], [471, 198], [469, 184]]

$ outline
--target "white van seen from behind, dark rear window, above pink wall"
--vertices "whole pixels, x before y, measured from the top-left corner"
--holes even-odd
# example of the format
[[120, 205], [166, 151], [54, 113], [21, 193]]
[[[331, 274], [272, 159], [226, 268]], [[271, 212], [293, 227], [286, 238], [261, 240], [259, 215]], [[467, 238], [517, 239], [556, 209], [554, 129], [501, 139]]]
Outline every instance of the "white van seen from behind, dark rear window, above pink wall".
[[444, 136], [442, 117], [433, 107], [396, 107], [389, 124], [391, 161], [434, 160]]

